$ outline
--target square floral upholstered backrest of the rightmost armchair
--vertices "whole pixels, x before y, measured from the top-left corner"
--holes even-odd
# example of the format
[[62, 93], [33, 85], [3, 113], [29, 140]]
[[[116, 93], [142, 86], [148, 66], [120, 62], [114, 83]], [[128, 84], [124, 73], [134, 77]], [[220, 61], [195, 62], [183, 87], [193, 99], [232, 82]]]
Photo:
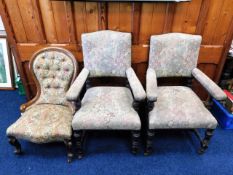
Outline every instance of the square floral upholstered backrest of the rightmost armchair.
[[199, 35], [182, 33], [151, 36], [149, 67], [157, 77], [191, 77], [201, 40]]

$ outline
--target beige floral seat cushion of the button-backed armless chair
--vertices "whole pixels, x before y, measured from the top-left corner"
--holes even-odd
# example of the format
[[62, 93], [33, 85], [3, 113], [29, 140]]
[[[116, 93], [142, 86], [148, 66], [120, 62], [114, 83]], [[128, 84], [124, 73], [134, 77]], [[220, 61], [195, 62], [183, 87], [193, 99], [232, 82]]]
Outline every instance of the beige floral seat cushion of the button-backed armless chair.
[[39, 104], [27, 109], [7, 129], [8, 136], [34, 143], [64, 141], [72, 135], [72, 110], [62, 105]]

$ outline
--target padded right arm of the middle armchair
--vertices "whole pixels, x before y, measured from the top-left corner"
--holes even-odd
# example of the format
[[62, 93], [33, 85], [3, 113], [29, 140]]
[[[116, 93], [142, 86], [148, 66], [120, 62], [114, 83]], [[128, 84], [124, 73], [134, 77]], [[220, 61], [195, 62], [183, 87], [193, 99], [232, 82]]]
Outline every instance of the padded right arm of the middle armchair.
[[141, 82], [131, 67], [126, 70], [126, 76], [129, 81], [134, 99], [136, 101], [144, 100], [146, 98], [145, 90], [143, 89]]

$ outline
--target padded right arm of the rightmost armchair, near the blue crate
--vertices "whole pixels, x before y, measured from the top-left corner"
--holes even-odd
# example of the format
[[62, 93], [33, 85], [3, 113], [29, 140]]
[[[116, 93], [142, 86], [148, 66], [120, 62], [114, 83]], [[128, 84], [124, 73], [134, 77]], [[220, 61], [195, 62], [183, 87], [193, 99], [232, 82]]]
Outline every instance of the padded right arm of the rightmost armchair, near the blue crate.
[[193, 77], [206, 89], [216, 100], [226, 100], [223, 90], [198, 68], [192, 70]]

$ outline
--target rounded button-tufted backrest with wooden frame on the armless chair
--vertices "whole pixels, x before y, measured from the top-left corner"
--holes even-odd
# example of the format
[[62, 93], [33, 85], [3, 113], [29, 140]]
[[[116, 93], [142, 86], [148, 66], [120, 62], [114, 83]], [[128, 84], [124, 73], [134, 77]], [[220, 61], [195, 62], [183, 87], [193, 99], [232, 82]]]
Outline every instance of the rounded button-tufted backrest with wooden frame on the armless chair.
[[30, 61], [37, 86], [36, 104], [70, 106], [65, 94], [77, 75], [77, 61], [62, 48], [49, 47], [36, 52]]

